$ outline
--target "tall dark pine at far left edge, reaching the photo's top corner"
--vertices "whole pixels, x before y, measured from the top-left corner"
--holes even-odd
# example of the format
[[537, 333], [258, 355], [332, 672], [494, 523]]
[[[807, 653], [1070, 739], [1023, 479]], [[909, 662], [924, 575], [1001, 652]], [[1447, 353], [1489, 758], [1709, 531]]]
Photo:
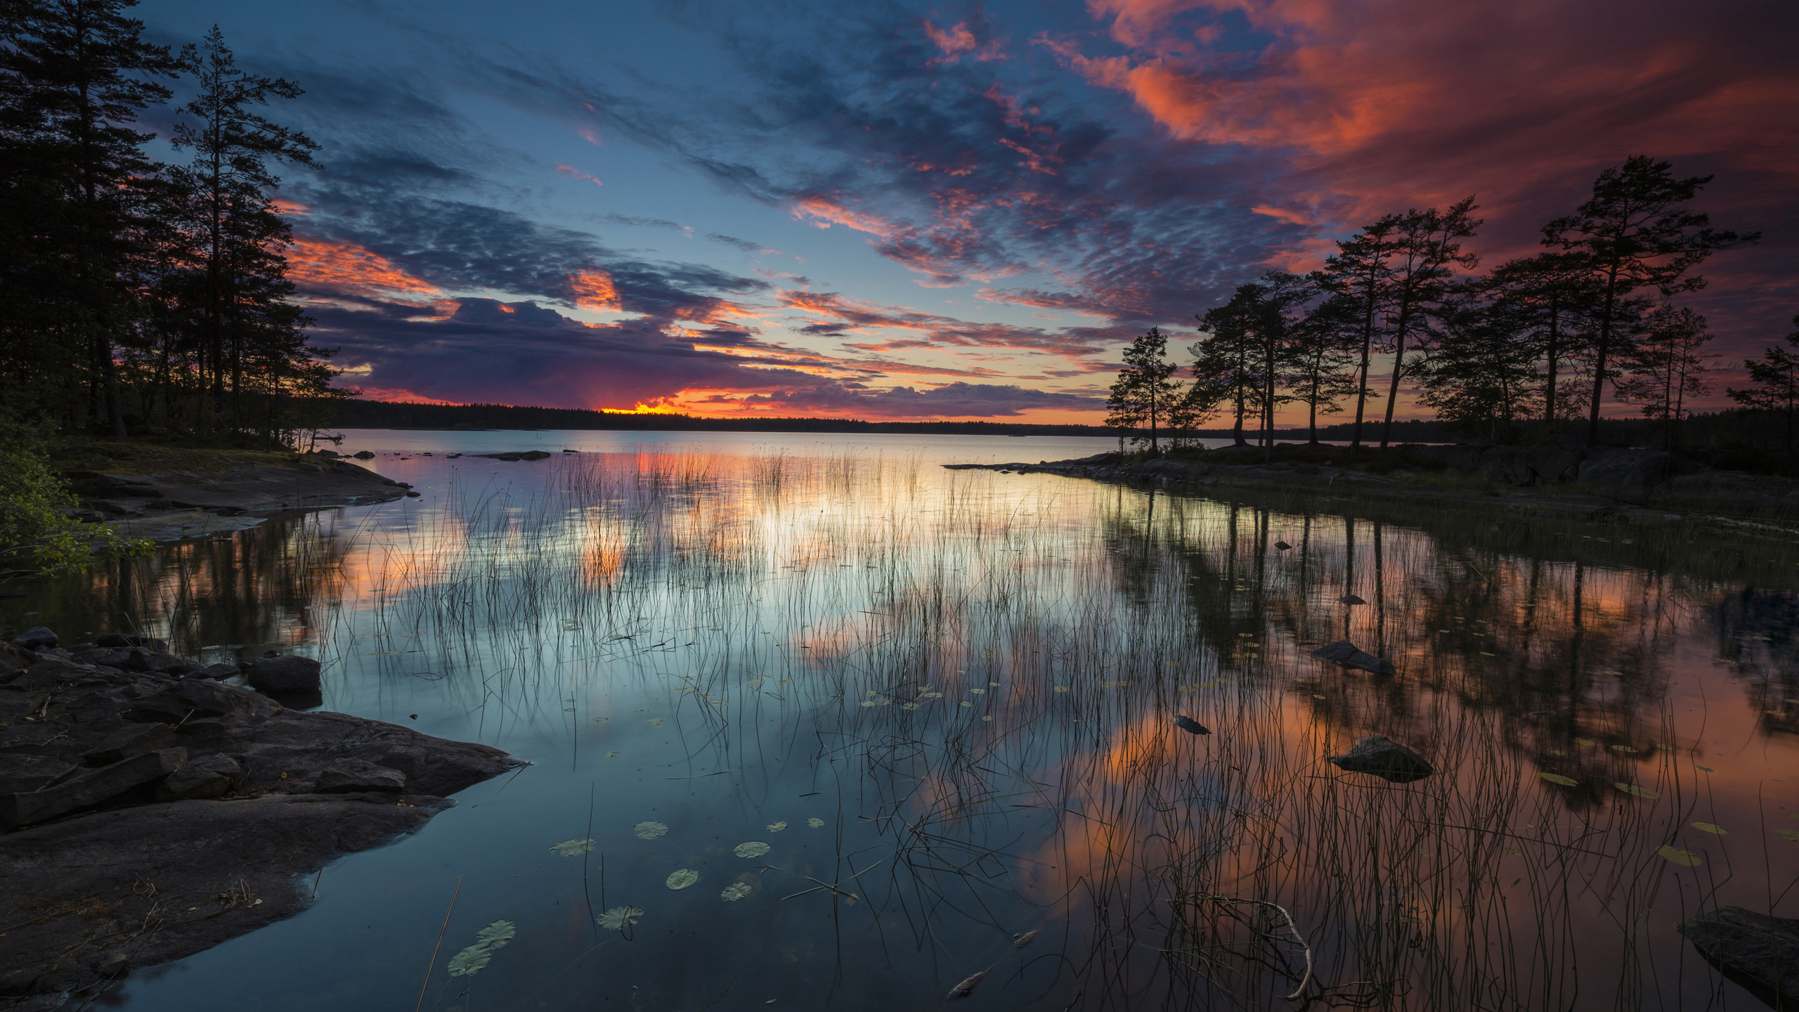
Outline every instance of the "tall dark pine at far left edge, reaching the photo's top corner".
[[[0, 5], [0, 366], [9, 400], [59, 384], [61, 411], [104, 412], [124, 436], [117, 346], [133, 333], [135, 261], [155, 137], [133, 128], [178, 72], [124, 13], [137, 0]], [[79, 385], [86, 385], [81, 391]], [[38, 387], [32, 391], [32, 387]], [[34, 394], [34, 396], [32, 396]]]

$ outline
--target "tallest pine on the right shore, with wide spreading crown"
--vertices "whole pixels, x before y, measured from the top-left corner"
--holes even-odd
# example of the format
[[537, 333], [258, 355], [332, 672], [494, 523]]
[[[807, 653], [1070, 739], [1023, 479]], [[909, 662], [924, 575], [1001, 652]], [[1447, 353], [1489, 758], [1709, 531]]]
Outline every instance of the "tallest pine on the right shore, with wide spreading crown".
[[1605, 169], [1592, 184], [1592, 198], [1574, 214], [1544, 225], [1544, 245], [1581, 254], [1599, 292], [1592, 353], [1592, 402], [1587, 405], [1587, 443], [1599, 443], [1599, 402], [1612, 376], [1624, 301], [1632, 292], [1655, 288], [1662, 297], [1695, 292], [1705, 279], [1691, 274], [1713, 252], [1754, 243], [1759, 232], [1738, 236], [1711, 229], [1711, 218], [1686, 209], [1711, 176], [1677, 180], [1669, 162], [1632, 155], [1623, 166]]

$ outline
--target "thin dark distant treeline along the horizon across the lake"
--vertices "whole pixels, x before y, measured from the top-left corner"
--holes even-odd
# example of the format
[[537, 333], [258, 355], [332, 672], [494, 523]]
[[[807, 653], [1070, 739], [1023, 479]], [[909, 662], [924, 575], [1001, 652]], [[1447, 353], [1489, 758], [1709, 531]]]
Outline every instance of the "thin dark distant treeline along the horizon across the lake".
[[583, 429], [621, 432], [935, 432], [955, 436], [1115, 436], [1103, 425], [1009, 421], [862, 421], [856, 418], [698, 418], [506, 403], [349, 400], [335, 407], [342, 429]]

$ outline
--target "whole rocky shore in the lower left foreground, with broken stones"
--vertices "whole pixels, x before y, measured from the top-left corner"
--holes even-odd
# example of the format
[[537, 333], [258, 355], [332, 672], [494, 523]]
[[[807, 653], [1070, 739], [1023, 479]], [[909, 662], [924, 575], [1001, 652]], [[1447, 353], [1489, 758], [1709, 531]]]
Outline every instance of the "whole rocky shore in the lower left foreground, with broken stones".
[[205, 666], [45, 628], [0, 646], [0, 1008], [59, 1008], [290, 917], [300, 877], [524, 765], [284, 706], [317, 700], [306, 657]]

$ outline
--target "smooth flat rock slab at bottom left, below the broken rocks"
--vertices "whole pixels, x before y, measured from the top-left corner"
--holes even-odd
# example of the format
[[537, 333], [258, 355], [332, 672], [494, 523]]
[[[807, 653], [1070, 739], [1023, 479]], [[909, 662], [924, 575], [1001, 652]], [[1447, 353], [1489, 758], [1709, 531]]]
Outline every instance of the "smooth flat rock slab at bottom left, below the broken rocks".
[[[450, 807], [394, 794], [270, 794], [101, 812], [0, 837], [0, 996], [56, 996], [180, 960], [299, 913], [340, 854]], [[302, 891], [304, 890], [304, 891]], [[0, 1008], [7, 999], [0, 998]]]

